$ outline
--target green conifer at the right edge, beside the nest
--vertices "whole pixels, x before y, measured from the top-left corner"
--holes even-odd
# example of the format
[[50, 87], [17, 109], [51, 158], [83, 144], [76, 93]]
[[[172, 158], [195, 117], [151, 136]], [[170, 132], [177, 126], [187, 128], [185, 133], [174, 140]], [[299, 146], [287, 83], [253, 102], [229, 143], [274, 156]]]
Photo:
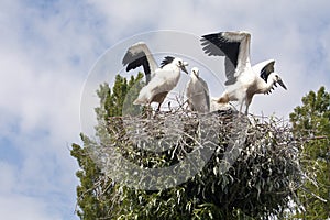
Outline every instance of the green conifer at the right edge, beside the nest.
[[330, 94], [324, 87], [302, 97], [302, 106], [290, 113], [297, 139], [307, 140], [300, 148], [304, 167], [298, 195], [305, 219], [330, 218]]

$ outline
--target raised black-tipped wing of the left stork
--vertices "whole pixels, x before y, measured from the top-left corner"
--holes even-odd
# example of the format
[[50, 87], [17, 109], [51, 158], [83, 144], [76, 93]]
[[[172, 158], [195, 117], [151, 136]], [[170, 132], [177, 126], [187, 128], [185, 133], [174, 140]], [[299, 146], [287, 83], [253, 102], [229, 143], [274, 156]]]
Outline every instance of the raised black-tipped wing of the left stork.
[[151, 76], [158, 68], [157, 63], [144, 42], [139, 42], [130, 46], [122, 59], [122, 64], [124, 66], [128, 65], [127, 72], [139, 66], [143, 66], [146, 84], [151, 80]]

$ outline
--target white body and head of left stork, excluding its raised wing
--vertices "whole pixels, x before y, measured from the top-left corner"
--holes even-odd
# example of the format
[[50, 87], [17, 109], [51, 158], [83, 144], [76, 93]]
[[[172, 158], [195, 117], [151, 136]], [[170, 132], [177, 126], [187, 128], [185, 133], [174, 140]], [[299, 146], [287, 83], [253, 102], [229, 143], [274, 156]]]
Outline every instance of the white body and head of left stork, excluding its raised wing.
[[152, 102], [158, 102], [157, 111], [166, 98], [167, 94], [174, 89], [180, 78], [180, 70], [188, 74], [186, 66], [188, 63], [182, 58], [166, 56], [157, 68], [148, 84], [144, 86], [134, 105], [150, 106]]

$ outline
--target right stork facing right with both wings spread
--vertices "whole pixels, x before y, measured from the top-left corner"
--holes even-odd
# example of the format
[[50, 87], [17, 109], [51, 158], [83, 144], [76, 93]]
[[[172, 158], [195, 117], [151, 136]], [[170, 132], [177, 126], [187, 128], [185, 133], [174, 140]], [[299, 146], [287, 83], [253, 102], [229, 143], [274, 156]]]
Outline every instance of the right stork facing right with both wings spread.
[[245, 103], [245, 114], [255, 94], [268, 94], [278, 82], [286, 86], [274, 73], [275, 61], [262, 62], [254, 67], [250, 63], [251, 35], [246, 32], [220, 32], [204, 35], [201, 45], [209, 56], [224, 56], [227, 81], [226, 91], [218, 99], [219, 103], [240, 102], [240, 112]]

